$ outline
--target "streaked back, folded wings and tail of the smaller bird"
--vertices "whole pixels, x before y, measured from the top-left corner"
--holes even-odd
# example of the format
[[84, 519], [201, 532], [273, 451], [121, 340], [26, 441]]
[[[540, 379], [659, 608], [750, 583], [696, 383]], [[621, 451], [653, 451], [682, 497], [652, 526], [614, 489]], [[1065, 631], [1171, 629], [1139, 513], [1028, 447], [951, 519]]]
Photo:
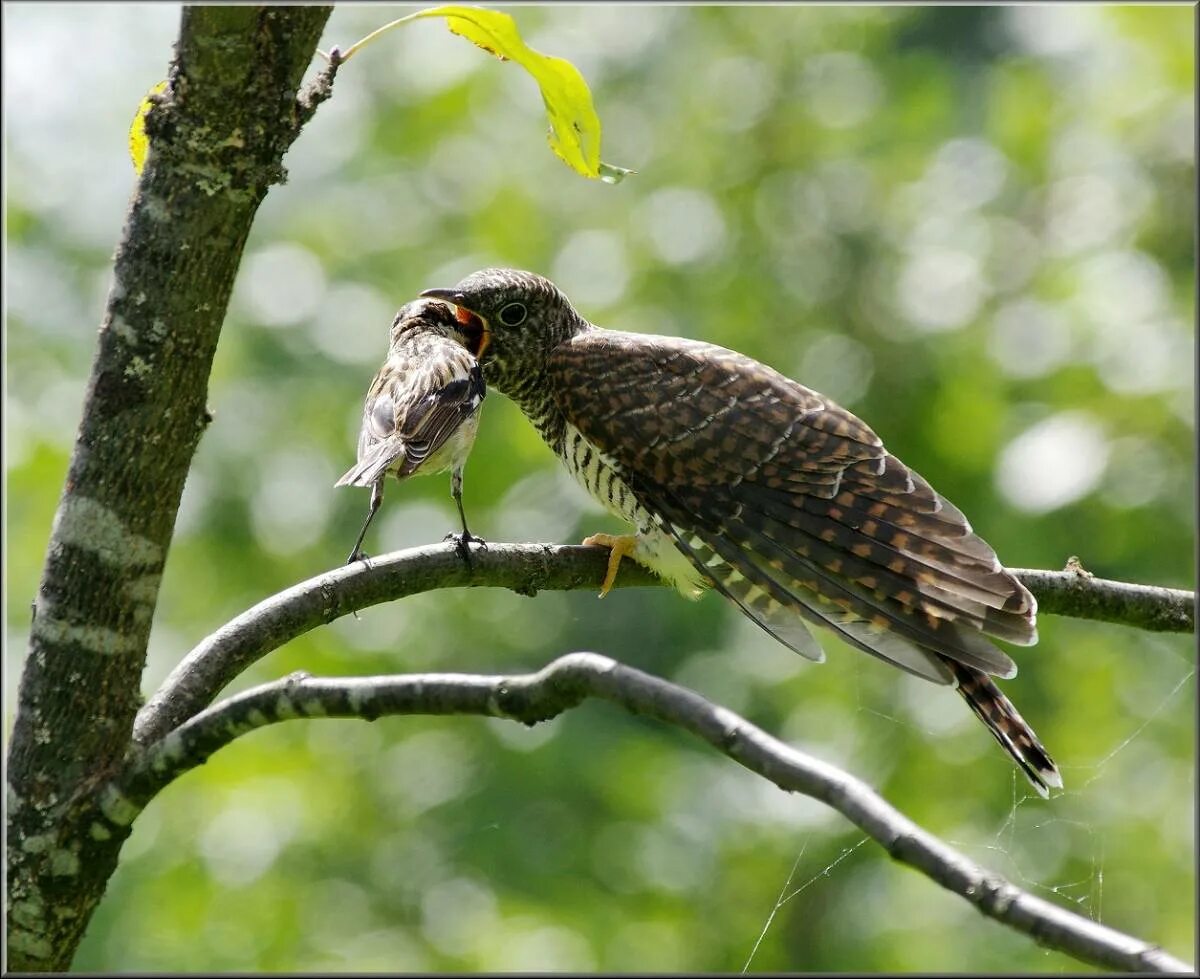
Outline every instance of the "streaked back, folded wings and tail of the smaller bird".
[[337, 486], [410, 476], [469, 419], [486, 394], [479, 364], [452, 340], [392, 350], [362, 407], [358, 462]]

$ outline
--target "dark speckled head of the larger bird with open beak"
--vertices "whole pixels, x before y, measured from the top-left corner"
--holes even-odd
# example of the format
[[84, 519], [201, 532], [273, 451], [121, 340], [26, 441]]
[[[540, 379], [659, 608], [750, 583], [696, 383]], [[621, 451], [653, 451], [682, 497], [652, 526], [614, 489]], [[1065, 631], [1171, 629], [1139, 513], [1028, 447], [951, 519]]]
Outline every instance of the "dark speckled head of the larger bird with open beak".
[[553, 282], [516, 269], [482, 269], [452, 288], [421, 295], [454, 304], [463, 328], [481, 332], [473, 353], [500, 391], [539, 371], [551, 350], [588, 328]]

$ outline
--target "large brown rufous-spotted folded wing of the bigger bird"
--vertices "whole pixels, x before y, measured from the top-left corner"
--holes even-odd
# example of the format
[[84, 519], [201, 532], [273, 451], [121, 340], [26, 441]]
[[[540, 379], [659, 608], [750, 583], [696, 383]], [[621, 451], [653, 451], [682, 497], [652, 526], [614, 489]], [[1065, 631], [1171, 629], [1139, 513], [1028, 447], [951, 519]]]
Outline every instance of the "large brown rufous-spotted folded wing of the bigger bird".
[[950, 683], [941, 656], [1016, 673], [984, 632], [1037, 641], [1037, 602], [962, 513], [828, 398], [721, 347], [610, 330], [547, 368], [679, 549], [798, 653], [815, 645], [803, 619]]

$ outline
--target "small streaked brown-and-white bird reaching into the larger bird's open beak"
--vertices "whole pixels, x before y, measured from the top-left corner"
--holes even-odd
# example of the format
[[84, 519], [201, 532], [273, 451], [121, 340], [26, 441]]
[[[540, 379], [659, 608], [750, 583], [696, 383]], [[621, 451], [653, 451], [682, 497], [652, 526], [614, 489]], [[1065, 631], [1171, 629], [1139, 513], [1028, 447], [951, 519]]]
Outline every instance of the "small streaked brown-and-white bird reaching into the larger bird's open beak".
[[[463, 560], [470, 543], [484, 543], [467, 529], [462, 509], [462, 470], [475, 442], [486, 388], [476, 356], [486, 342], [466, 313], [431, 299], [406, 304], [391, 324], [388, 360], [371, 382], [362, 406], [359, 461], [335, 486], [370, 486], [371, 509], [347, 564], [365, 558], [362, 539], [383, 503], [388, 474], [397, 480], [451, 470], [450, 494], [458, 506]], [[486, 547], [486, 545], [484, 545]]]

